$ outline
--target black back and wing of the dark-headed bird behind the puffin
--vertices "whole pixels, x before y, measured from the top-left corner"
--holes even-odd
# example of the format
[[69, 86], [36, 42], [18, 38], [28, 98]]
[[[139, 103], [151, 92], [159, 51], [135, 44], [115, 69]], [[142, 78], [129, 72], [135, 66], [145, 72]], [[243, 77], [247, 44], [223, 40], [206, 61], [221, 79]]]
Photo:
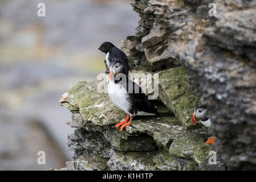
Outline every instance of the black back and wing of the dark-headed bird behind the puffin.
[[119, 61], [121, 64], [123, 64], [124, 73], [128, 77], [129, 65], [127, 56], [123, 51], [121, 51], [117, 47], [113, 47], [109, 52], [109, 62], [111, 63], [112, 61]]

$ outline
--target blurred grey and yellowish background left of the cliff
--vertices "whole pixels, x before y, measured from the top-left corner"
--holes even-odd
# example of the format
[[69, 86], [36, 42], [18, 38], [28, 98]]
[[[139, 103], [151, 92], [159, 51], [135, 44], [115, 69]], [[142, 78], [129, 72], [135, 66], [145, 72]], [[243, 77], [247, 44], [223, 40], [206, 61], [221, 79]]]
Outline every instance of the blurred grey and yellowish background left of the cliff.
[[[46, 4], [46, 17], [37, 5]], [[73, 155], [59, 96], [105, 71], [104, 42], [120, 46], [139, 16], [129, 1], [0, 1], [0, 170], [62, 168]], [[37, 152], [46, 152], [46, 165]]]

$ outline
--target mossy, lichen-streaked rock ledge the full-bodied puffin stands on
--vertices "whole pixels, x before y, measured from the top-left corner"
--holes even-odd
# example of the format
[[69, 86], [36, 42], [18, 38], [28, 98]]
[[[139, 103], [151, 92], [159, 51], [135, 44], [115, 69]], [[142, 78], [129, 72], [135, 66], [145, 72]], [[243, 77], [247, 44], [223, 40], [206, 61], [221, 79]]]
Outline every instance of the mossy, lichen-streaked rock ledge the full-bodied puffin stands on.
[[60, 98], [61, 105], [72, 112], [67, 124], [75, 128], [68, 136], [68, 146], [75, 151], [68, 169], [195, 170], [208, 158], [212, 150], [205, 143], [208, 129], [192, 126], [190, 121], [199, 100], [188, 88], [186, 69], [176, 67], [155, 74], [161, 93], [155, 100], [160, 115], [135, 117], [123, 131], [115, 123], [126, 114], [104, 93], [108, 75], [70, 86], [64, 93], [66, 99]]

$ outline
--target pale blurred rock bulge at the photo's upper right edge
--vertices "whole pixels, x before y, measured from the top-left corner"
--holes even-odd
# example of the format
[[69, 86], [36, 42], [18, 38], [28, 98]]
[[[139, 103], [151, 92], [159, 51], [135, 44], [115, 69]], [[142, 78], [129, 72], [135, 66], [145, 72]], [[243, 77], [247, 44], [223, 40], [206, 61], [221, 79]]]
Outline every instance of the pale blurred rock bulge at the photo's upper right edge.
[[218, 19], [215, 27], [206, 28], [204, 34], [210, 44], [229, 49], [235, 55], [254, 52], [256, 49], [256, 8], [226, 12]]

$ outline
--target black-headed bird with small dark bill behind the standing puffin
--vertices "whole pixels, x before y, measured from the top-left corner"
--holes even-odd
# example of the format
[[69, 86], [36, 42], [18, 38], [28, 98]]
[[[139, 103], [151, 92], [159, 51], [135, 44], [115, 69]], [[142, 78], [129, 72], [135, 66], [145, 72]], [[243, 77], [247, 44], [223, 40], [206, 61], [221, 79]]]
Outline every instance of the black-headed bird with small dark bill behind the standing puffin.
[[[109, 68], [109, 64], [112, 61], [118, 61], [119, 63], [123, 64], [124, 73], [128, 77], [128, 74], [129, 74], [128, 59], [126, 54], [123, 51], [121, 51], [119, 48], [117, 48], [110, 42], [102, 43], [98, 49], [101, 52], [106, 53], [106, 62], [107, 62], [108, 68]], [[109, 69], [107, 69], [105, 73], [106, 74], [109, 73]]]

